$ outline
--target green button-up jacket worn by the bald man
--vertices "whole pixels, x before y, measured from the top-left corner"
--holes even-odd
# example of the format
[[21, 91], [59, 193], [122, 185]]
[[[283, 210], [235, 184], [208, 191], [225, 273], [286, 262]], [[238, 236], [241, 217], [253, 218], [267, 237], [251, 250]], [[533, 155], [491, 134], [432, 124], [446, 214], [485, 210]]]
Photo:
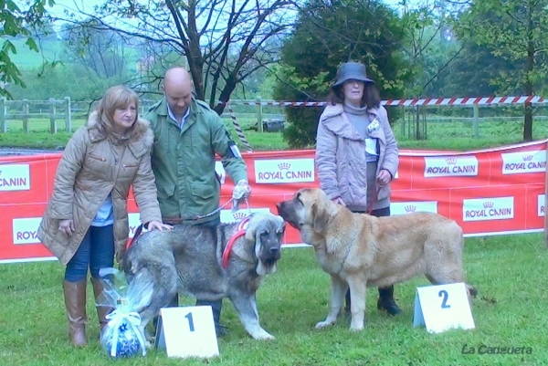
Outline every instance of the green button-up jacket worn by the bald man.
[[[195, 218], [219, 206], [221, 184], [215, 172], [215, 157], [234, 183], [248, 180], [246, 164], [229, 150], [230, 134], [223, 120], [205, 102], [192, 99], [183, 129], [169, 118], [165, 98], [143, 116], [154, 131], [152, 152], [158, 202], [164, 218]], [[218, 219], [219, 213], [193, 221], [200, 224]]]

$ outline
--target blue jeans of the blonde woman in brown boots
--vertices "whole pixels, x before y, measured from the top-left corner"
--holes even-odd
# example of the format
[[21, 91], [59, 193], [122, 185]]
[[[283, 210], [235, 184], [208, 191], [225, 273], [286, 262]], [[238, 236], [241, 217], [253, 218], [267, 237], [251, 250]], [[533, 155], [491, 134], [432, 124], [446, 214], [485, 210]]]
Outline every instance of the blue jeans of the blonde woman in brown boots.
[[100, 268], [114, 266], [114, 231], [113, 225], [90, 226], [80, 243], [76, 254], [68, 262], [65, 279], [78, 282], [88, 277], [99, 278]]

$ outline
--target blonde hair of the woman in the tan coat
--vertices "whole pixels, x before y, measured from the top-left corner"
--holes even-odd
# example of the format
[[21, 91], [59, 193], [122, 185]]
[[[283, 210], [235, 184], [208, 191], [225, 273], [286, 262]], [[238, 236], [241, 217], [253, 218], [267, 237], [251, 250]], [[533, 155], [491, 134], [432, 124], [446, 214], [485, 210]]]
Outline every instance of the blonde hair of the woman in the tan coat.
[[139, 96], [125, 85], [116, 85], [107, 89], [97, 107], [100, 130], [111, 134], [113, 132], [114, 112], [118, 108], [127, 108], [131, 103], [135, 104], [137, 113], [135, 113], [135, 120], [133, 120], [132, 127], [128, 129], [129, 131], [132, 131], [135, 127], [135, 121], [139, 118]]

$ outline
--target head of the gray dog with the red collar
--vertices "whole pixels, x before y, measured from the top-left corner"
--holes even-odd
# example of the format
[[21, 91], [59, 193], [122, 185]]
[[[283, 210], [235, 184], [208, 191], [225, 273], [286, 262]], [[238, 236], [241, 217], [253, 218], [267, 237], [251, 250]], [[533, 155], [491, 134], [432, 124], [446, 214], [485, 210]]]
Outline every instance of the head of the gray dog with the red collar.
[[257, 274], [264, 276], [276, 271], [281, 256], [281, 240], [285, 222], [275, 214], [253, 214], [246, 229], [246, 239], [255, 243], [258, 258]]

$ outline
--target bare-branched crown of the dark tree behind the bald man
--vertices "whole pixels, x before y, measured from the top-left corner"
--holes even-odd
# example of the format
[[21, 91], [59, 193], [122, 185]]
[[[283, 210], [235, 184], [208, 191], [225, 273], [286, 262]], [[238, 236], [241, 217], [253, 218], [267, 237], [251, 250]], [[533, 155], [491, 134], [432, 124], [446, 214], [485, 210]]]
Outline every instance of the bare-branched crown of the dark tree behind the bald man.
[[[275, 62], [269, 39], [292, 24], [292, 0], [102, 0], [93, 12], [103, 29], [170, 47], [186, 58], [198, 99], [218, 113], [259, 68]], [[153, 55], [155, 58], [155, 55]], [[153, 82], [155, 82], [153, 78]]]

